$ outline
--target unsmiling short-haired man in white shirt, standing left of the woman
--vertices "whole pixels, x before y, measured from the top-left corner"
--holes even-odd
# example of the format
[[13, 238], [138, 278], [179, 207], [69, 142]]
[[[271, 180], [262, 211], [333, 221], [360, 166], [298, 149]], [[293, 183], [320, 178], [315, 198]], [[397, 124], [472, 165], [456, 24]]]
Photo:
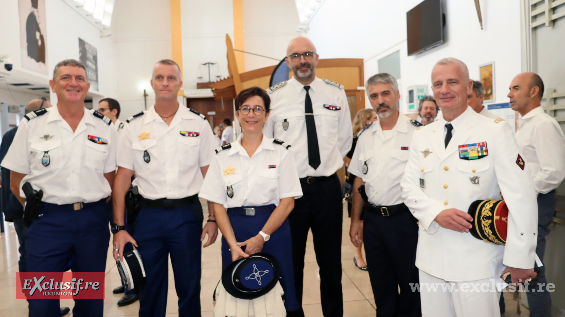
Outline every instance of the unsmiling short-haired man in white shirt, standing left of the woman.
[[[147, 280], [141, 286], [140, 316], [165, 315], [169, 254], [179, 315], [200, 315], [201, 241], [208, 234], [206, 247], [218, 235], [211, 203], [212, 222], [202, 228], [198, 200], [214, 156], [214, 134], [205, 116], [177, 102], [181, 85], [179, 65], [169, 59], [158, 61], [151, 77], [155, 103], [129, 118], [120, 137], [112, 196], [114, 258], [123, 257], [127, 242], [137, 246], [143, 258]], [[141, 207], [133, 238], [124, 230], [124, 197], [130, 184], [138, 189]]]

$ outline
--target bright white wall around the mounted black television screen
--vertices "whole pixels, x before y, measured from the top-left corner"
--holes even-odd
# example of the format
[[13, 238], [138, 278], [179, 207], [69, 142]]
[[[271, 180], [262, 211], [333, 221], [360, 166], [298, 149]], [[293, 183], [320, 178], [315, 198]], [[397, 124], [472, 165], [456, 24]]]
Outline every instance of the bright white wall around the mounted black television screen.
[[[444, 0], [446, 43], [415, 56], [407, 56], [406, 12], [421, 0], [326, 0], [310, 23], [307, 36], [320, 58], [363, 58], [365, 79], [378, 72], [377, 60], [400, 50], [401, 95], [406, 87], [428, 85], [437, 60], [455, 57], [467, 64], [472, 79], [479, 65], [495, 61], [496, 103], [508, 102], [507, 87], [520, 72], [520, 3], [481, 0], [484, 29], [472, 1]], [[428, 89], [431, 94], [431, 88]], [[369, 105], [367, 103], [367, 105]]]

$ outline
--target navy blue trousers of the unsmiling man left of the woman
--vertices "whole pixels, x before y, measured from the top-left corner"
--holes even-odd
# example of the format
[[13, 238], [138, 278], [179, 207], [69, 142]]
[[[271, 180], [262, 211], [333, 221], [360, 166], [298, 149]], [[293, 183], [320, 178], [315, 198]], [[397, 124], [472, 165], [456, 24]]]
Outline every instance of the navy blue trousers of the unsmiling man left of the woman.
[[200, 316], [203, 217], [198, 200], [172, 209], [141, 208], [133, 236], [147, 278], [140, 289], [140, 316], [165, 315], [169, 254], [179, 296], [179, 316]]

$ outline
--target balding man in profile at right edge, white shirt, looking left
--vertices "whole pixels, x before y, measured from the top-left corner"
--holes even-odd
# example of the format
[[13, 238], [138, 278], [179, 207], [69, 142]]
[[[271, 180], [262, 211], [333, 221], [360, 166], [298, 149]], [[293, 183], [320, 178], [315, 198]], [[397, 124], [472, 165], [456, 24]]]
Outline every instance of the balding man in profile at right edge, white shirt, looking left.
[[[529, 163], [537, 192], [538, 224], [536, 254], [543, 261], [545, 236], [555, 214], [555, 188], [565, 178], [565, 135], [554, 118], [544, 112], [541, 98], [544, 82], [538, 74], [521, 73], [510, 83], [510, 105], [520, 112], [516, 141]], [[551, 297], [547, 292], [545, 266], [529, 283], [528, 304], [531, 315], [551, 316]]]

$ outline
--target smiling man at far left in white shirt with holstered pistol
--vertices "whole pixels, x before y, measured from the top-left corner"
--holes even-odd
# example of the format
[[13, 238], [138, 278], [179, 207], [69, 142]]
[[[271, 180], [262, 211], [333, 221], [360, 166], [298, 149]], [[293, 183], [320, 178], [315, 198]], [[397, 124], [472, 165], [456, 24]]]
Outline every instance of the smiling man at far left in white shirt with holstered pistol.
[[[29, 182], [43, 191], [25, 237], [28, 272], [104, 272], [110, 232], [105, 201], [112, 192], [118, 133], [109, 118], [84, 107], [90, 83], [84, 64], [55, 65], [56, 107], [24, 116], [2, 161], [23, 204]], [[29, 208], [27, 206], [26, 208]], [[25, 215], [24, 215], [25, 217]], [[104, 300], [75, 300], [73, 315], [102, 316]], [[29, 316], [60, 316], [59, 298], [29, 300]]]

